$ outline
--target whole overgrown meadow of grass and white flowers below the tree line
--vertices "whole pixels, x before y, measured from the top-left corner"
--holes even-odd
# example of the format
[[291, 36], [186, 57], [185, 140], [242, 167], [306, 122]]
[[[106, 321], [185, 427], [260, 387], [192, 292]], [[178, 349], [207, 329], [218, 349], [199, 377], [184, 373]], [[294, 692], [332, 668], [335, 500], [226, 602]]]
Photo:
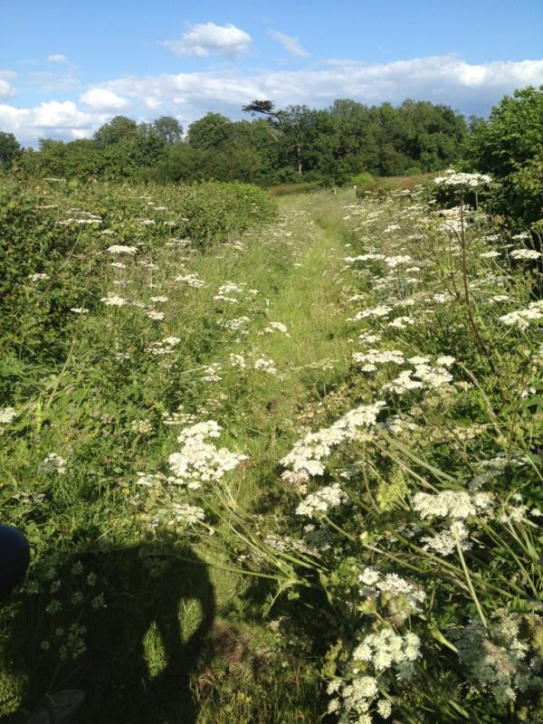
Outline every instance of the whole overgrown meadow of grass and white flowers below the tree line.
[[541, 255], [490, 183], [0, 182], [3, 720], [543, 721]]

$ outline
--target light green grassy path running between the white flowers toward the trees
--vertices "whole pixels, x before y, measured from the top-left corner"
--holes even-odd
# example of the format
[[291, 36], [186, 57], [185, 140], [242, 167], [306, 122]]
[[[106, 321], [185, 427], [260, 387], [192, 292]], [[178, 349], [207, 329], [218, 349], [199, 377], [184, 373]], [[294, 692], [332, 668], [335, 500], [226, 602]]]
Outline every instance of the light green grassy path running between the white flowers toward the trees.
[[[232, 443], [249, 457], [249, 464], [237, 477], [237, 498], [242, 506], [269, 496], [273, 500], [278, 461], [303, 426], [319, 424], [319, 412], [325, 413], [319, 399], [347, 373], [350, 346], [341, 307], [345, 291], [340, 274], [348, 239], [342, 229], [343, 214], [341, 201], [324, 193], [284, 200], [280, 222], [249, 243], [243, 261], [232, 269], [233, 281], [259, 289], [269, 300], [267, 319], [281, 322], [288, 330], [288, 334], [276, 331], [256, 338], [250, 334], [235, 347], [236, 354], [248, 357], [256, 345], [260, 356], [273, 361], [277, 375], [252, 374], [243, 393], [236, 378], [230, 389], [229, 379], [223, 381], [223, 393], [232, 397]], [[209, 278], [211, 271], [202, 270], [201, 274]], [[222, 352], [217, 361], [224, 358]], [[252, 650], [272, 648], [269, 629], [250, 623], [251, 607], [243, 595], [247, 581], [224, 573], [220, 552], [206, 549], [205, 543], [198, 553], [211, 564], [218, 610], [225, 620], [234, 607], [231, 619], [236, 630], [251, 640]], [[189, 620], [193, 614], [186, 610]], [[240, 621], [244, 622], [241, 626]], [[204, 701], [198, 721], [271, 722], [275, 717], [281, 720], [281, 711], [291, 712], [294, 719], [289, 721], [313, 721], [319, 706], [312, 685], [306, 686], [303, 676], [303, 671], [275, 669], [261, 692], [260, 711], [255, 710], [255, 700], [236, 700], [234, 696], [233, 708], [219, 708], [223, 713], [218, 712], [216, 702], [207, 710]], [[257, 696], [258, 683], [252, 681], [250, 688], [252, 696]]]

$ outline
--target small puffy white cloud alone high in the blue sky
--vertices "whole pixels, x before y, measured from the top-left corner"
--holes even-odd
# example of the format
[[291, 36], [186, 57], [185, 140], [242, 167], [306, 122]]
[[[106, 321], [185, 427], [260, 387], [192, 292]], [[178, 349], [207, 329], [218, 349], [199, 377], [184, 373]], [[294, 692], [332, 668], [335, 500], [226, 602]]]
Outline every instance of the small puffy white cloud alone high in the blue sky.
[[247, 50], [251, 44], [251, 35], [233, 24], [201, 23], [192, 25], [190, 30], [181, 36], [181, 40], [167, 40], [161, 44], [176, 55], [196, 55], [203, 58], [210, 52], [215, 52], [233, 60]]

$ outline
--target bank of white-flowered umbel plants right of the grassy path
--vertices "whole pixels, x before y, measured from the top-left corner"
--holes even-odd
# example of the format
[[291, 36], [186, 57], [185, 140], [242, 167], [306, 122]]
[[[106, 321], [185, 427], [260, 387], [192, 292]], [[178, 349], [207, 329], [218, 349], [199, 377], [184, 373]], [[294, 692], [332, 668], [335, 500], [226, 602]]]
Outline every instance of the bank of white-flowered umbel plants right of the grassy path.
[[504, 250], [463, 198], [444, 213], [420, 198], [349, 207], [354, 406], [279, 461], [286, 505], [267, 522], [238, 506], [226, 473], [243, 456], [206, 440], [208, 421], [170, 457], [169, 483], [198, 499], [176, 515], [219, 521], [245, 570], [277, 582], [270, 609], [285, 593], [292, 617], [311, 606], [332, 719], [536, 722], [543, 311], [522, 240]]

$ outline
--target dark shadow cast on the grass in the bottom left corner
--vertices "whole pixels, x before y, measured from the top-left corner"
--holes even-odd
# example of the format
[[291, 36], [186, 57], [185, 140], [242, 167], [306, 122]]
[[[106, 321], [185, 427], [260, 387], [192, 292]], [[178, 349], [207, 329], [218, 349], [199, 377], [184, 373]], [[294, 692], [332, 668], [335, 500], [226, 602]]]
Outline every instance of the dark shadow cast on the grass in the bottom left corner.
[[[59, 591], [22, 595], [14, 611], [2, 665], [12, 662], [26, 686], [22, 707], [5, 724], [23, 724], [46, 694], [63, 689], [86, 694], [70, 719], [74, 724], [195, 724], [190, 678], [206, 664], [205, 636], [215, 611], [205, 563], [190, 548], [154, 543], [81, 551], [54, 567], [47, 586], [51, 592], [58, 579]], [[74, 608], [73, 592], [84, 589], [89, 575], [90, 595], [103, 592], [105, 607]], [[50, 615], [45, 608], [53, 598], [62, 610]], [[85, 649], [76, 659], [69, 642], [74, 623], [86, 629]], [[43, 650], [49, 637], [54, 645]]]

